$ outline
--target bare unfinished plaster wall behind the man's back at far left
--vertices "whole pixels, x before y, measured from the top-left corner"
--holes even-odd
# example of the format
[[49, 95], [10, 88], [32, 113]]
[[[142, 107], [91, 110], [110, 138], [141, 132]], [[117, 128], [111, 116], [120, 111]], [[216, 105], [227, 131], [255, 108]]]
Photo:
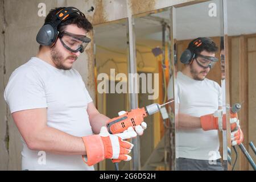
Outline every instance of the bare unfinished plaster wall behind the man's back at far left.
[[[3, 98], [3, 90], [14, 69], [26, 63], [38, 51], [35, 36], [44, 22], [38, 16], [38, 4], [42, 1], [1, 0], [1, 98], [0, 98], [0, 169], [21, 169], [22, 143], [20, 134]], [[45, 1], [48, 7], [56, 1]]]

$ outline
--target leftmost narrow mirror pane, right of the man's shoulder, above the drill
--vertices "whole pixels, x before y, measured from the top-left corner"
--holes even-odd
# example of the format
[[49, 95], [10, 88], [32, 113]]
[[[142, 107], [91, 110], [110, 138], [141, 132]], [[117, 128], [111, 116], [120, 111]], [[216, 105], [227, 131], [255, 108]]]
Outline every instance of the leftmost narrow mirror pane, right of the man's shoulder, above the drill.
[[[94, 26], [96, 106], [109, 118], [128, 111], [127, 19]], [[114, 170], [111, 160], [100, 163], [100, 170]], [[130, 170], [130, 162], [119, 163], [119, 170]]]

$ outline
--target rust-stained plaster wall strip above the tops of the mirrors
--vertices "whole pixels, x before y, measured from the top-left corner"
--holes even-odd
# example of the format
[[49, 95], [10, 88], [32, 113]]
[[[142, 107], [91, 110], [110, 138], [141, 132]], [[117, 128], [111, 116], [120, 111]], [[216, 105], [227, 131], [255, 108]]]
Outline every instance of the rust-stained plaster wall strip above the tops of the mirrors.
[[89, 16], [92, 16], [93, 24], [100, 24], [164, 7], [204, 1], [206, 0], [85, 0], [85, 5], [94, 7], [94, 11]]

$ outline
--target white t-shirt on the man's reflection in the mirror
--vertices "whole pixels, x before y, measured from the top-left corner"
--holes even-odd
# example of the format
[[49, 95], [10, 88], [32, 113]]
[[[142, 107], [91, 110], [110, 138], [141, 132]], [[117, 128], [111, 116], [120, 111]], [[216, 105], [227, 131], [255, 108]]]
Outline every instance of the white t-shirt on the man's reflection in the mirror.
[[[182, 72], [177, 73], [177, 101], [179, 112], [194, 117], [212, 114], [221, 102], [221, 88], [217, 82], [205, 78], [194, 80]], [[174, 98], [172, 78], [168, 84], [168, 99]], [[176, 129], [176, 158], [199, 160], [220, 159], [218, 130]]]

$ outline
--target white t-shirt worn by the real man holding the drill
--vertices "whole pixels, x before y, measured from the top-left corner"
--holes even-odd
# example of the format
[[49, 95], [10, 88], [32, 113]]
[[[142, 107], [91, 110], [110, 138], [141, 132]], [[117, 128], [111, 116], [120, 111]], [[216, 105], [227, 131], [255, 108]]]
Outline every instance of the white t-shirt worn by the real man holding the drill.
[[[10, 76], [5, 89], [5, 100], [11, 113], [47, 108], [49, 127], [76, 137], [93, 134], [86, 111], [92, 98], [75, 69], [57, 69], [37, 57], [32, 57]], [[23, 170], [94, 170], [93, 166], [89, 167], [82, 161], [81, 155], [32, 151], [23, 138], [22, 142]]]

